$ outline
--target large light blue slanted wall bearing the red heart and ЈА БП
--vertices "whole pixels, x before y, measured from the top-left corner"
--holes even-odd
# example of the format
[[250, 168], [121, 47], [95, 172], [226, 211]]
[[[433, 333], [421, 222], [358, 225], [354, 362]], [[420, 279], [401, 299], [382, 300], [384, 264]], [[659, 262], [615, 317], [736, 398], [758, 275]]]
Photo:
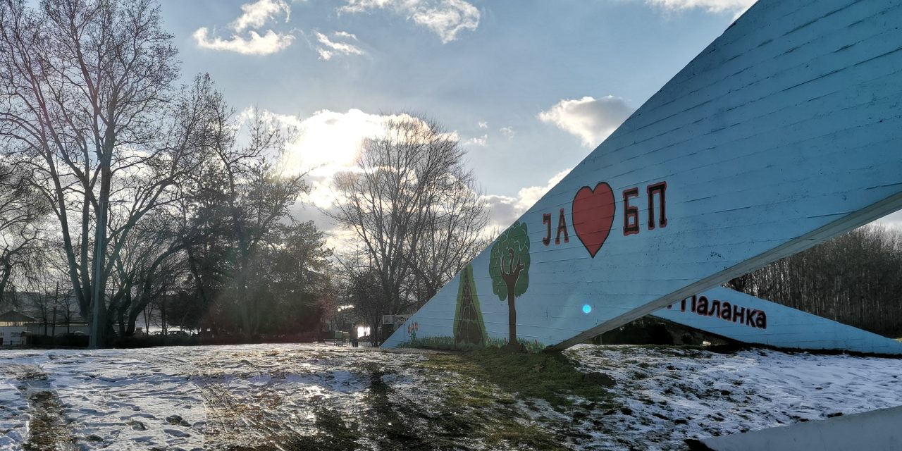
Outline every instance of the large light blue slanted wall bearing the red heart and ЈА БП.
[[[897, 2], [752, 6], [520, 217], [531, 264], [519, 336], [571, 345], [902, 207], [899, 23]], [[649, 230], [646, 187], [662, 181], [667, 226]], [[574, 199], [599, 182], [614, 216], [592, 256], [575, 230], [603, 208]], [[632, 188], [640, 233], [624, 235]], [[569, 241], [554, 244], [561, 209]], [[490, 263], [489, 250], [474, 259], [474, 281], [488, 334], [501, 338], [508, 308]], [[410, 318], [419, 337], [451, 334], [458, 278]], [[400, 327], [385, 345], [409, 338]]]

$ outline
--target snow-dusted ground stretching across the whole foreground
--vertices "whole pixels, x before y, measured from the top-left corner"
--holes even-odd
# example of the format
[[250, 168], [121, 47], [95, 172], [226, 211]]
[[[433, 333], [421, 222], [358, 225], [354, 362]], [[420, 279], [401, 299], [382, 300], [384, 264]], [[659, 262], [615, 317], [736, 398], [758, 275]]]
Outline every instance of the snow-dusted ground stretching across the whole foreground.
[[902, 405], [897, 359], [592, 345], [567, 354], [613, 378], [610, 400], [552, 409], [418, 351], [2, 351], [0, 449], [40, 449], [39, 437], [62, 449], [519, 449], [520, 433], [564, 448], [679, 449], [686, 438]]

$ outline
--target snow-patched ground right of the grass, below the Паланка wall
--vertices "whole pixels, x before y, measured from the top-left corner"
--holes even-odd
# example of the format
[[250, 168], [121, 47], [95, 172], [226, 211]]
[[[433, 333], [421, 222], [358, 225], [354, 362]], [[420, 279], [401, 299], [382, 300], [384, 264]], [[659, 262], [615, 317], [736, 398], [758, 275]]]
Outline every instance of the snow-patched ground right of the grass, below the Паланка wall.
[[595, 439], [642, 449], [902, 405], [899, 359], [633, 346], [571, 352], [584, 368], [622, 382], [612, 391], [626, 409]]

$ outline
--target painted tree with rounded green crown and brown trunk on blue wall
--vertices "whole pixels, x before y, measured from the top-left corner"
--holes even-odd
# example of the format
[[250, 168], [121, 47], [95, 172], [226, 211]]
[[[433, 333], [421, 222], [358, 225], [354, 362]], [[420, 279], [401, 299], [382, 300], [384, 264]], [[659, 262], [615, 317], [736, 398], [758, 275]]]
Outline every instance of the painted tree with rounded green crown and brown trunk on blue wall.
[[489, 275], [492, 292], [508, 301], [508, 346], [520, 349], [517, 341], [517, 308], [514, 299], [529, 288], [529, 234], [526, 223], [516, 222], [492, 244], [489, 256]]

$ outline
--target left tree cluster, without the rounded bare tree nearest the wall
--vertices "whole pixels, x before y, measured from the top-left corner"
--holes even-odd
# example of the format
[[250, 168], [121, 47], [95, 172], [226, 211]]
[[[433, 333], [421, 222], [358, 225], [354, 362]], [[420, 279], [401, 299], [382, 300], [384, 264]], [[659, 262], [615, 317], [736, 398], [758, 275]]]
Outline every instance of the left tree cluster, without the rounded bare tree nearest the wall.
[[280, 166], [291, 131], [236, 115], [206, 75], [179, 84], [172, 41], [149, 1], [0, 3], [0, 293], [97, 311], [99, 345], [149, 308], [220, 335], [318, 332], [330, 251], [290, 215], [309, 190]]

